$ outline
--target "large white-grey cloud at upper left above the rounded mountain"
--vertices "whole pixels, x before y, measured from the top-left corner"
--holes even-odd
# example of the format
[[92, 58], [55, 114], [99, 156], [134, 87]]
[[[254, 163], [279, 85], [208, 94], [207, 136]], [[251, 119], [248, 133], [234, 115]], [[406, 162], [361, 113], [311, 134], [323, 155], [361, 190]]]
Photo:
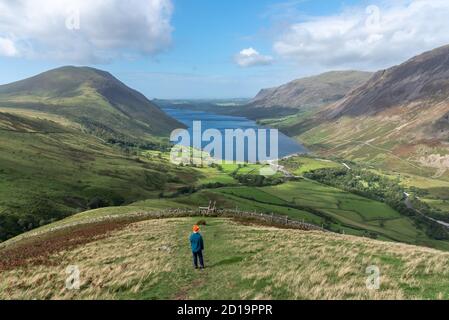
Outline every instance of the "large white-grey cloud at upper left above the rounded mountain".
[[171, 43], [171, 0], [0, 0], [0, 55], [104, 62]]

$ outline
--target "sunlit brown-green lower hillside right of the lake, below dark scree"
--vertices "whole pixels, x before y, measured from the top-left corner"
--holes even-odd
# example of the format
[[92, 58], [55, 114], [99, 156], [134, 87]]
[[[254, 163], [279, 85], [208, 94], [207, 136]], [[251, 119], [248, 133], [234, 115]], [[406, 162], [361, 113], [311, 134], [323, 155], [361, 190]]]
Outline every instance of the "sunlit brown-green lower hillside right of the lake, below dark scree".
[[364, 119], [356, 125], [353, 119], [342, 118], [332, 124], [313, 127], [313, 117], [301, 114], [271, 120], [269, 124], [295, 136], [321, 157], [339, 159], [340, 163], [357, 163], [399, 180], [439, 215], [448, 215], [449, 167], [444, 154], [449, 149], [446, 142], [421, 140], [410, 144], [409, 139], [395, 138], [401, 135], [399, 124], [384, 122], [381, 118]]

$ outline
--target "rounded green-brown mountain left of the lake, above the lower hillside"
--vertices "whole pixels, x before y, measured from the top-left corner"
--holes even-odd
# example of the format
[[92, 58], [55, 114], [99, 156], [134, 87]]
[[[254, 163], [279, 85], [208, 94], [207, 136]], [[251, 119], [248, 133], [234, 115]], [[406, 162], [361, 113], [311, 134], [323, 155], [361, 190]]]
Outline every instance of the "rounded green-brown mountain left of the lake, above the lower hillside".
[[183, 127], [110, 73], [87, 67], [62, 67], [0, 86], [0, 108], [61, 116], [118, 142], [153, 141]]

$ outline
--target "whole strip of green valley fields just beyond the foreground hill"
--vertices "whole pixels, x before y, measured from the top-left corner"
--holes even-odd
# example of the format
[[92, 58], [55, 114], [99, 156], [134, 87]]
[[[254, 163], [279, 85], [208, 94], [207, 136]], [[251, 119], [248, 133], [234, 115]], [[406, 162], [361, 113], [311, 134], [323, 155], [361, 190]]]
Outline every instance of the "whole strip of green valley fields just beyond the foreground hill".
[[413, 221], [384, 203], [322, 184], [301, 180], [273, 187], [228, 187], [175, 199], [192, 207], [210, 200], [220, 208], [288, 216], [339, 233], [449, 250], [449, 243], [429, 238]]

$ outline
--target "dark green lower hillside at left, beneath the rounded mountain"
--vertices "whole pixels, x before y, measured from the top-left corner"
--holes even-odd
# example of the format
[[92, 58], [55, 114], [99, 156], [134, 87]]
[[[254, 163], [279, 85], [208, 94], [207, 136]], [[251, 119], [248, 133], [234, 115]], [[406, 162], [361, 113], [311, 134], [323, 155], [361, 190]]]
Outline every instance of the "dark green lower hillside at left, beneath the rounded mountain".
[[201, 177], [36, 117], [0, 113], [0, 241], [89, 207], [157, 197]]

